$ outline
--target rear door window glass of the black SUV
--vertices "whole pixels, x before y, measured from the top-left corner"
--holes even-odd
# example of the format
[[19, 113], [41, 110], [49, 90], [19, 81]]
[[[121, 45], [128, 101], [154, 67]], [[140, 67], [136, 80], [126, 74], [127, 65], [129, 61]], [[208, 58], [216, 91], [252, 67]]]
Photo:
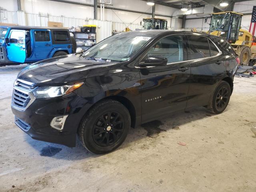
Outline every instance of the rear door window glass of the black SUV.
[[188, 60], [210, 57], [208, 38], [188, 35]]

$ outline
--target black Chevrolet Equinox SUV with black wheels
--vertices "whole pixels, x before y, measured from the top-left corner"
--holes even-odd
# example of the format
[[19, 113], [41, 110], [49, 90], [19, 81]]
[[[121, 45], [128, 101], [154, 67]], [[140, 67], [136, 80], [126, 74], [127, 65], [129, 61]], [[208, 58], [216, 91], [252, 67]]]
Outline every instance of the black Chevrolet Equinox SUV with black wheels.
[[111, 36], [87, 51], [42, 60], [14, 82], [15, 123], [32, 138], [103, 154], [129, 128], [205, 106], [225, 110], [239, 59], [223, 38], [139, 30]]

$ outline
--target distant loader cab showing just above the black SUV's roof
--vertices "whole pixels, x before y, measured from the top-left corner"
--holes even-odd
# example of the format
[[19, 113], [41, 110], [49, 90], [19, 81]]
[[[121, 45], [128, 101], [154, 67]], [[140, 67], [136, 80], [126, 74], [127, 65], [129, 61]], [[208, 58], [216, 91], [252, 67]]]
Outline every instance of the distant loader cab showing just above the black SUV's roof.
[[144, 29], [167, 29], [167, 20], [161, 18], [145, 18]]

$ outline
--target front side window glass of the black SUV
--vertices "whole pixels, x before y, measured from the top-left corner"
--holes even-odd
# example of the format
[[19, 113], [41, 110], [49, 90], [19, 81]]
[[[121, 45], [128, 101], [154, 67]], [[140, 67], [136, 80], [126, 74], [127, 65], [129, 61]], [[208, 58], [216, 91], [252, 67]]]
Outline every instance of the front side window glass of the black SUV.
[[183, 55], [181, 35], [172, 35], [162, 38], [148, 51], [148, 56], [167, 58], [168, 63], [183, 61]]

